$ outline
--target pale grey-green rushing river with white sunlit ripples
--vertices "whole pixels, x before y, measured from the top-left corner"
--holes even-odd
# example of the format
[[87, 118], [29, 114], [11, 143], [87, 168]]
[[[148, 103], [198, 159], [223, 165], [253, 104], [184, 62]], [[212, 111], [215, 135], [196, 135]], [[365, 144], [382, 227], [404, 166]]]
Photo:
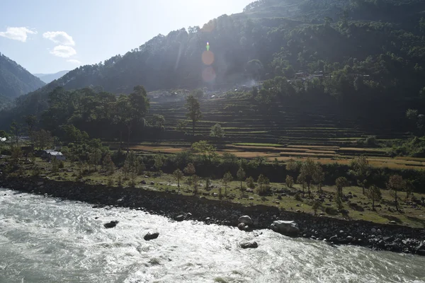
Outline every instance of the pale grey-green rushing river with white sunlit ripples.
[[0, 189], [0, 282], [425, 282], [425, 257]]

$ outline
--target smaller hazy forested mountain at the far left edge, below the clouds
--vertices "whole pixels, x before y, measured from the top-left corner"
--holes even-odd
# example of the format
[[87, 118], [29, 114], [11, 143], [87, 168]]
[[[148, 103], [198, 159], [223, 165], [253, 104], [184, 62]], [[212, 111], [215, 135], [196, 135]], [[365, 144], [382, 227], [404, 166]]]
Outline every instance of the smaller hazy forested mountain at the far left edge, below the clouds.
[[21, 65], [0, 53], [0, 97], [3, 96], [0, 103], [6, 98], [17, 98], [44, 85]]

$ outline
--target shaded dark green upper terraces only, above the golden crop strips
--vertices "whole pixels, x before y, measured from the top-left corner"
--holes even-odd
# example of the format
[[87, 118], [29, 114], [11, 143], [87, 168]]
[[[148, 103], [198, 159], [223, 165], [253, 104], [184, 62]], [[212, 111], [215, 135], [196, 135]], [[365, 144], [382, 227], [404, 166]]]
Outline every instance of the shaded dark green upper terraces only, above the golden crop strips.
[[[147, 120], [164, 115], [167, 131], [186, 120], [184, 101], [152, 102]], [[197, 123], [196, 134], [208, 138], [210, 129], [219, 123], [225, 130], [225, 141], [243, 143], [296, 144], [307, 146], [341, 146], [355, 144], [357, 139], [376, 135], [378, 139], [404, 139], [402, 132], [358, 129], [356, 121], [342, 115], [324, 115], [319, 110], [303, 112], [285, 105], [276, 105], [278, 112], [269, 113], [249, 100], [212, 99], [200, 102], [203, 119]], [[190, 124], [186, 128], [191, 133]], [[352, 146], [351, 146], [352, 147]]]

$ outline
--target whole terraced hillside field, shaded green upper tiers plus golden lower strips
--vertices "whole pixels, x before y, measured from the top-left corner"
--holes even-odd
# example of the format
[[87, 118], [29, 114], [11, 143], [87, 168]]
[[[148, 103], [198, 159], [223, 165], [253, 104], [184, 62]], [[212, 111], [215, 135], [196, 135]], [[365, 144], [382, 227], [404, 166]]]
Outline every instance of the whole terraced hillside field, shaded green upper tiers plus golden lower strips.
[[[252, 105], [249, 100], [212, 99], [200, 102], [203, 119], [197, 123], [196, 135], [210, 139], [210, 128], [219, 123], [225, 137], [213, 141], [219, 154], [229, 152], [241, 158], [265, 157], [268, 161], [285, 162], [290, 158], [314, 158], [327, 163], [349, 164], [353, 156], [365, 155], [371, 166], [387, 168], [424, 168], [425, 158], [390, 158], [385, 149], [358, 147], [357, 140], [374, 135], [378, 140], [406, 139], [403, 132], [377, 128], [360, 129], [356, 121], [342, 115], [324, 115], [319, 110], [304, 112], [285, 105], [270, 113]], [[186, 120], [184, 101], [153, 102], [147, 120], [152, 115], [164, 115], [166, 132], [162, 141], [132, 146], [133, 150], [173, 154], [190, 147], [187, 136], [175, 127]], [[191, 134], [191, 123], [184, 129]], [[181, 137], [180, 139], [176, 137]]]

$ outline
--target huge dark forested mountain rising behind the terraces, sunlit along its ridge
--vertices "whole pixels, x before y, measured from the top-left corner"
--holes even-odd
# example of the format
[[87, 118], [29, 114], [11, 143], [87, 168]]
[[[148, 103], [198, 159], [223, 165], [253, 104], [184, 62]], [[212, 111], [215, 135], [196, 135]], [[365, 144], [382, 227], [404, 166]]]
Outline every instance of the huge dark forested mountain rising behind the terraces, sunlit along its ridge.
[[243, 13], [157, 35], [124, 55], [69, 71], [20, 98], [13, 113], [40, 114], [57, 86], [130, 93], [136, 85], [217, 89], [270, 79], [254, 101], [328, 103], [330, 110], [385, 122], [386, 115], [424, 108], [424, 64], [425, 1], [261, 0]]

